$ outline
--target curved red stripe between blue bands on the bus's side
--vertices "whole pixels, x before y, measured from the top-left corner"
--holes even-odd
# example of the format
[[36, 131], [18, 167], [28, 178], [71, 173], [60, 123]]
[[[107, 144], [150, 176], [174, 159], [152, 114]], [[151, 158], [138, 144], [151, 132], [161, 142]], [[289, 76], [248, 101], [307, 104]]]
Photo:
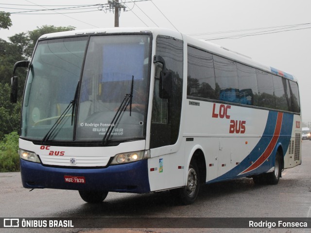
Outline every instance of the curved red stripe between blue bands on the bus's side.
[[242, 171], [240, 174], [252, 171], [254, 169], [256, 169], [257, 167], [259, 167], [261, 164], [263, 164], [263, 162], [270, 156], [270, 154], [272, 153], [273, 149], [276, 146], [276, 142], [279, 138], [280, 132], [281, 132], [281, 126], [282, 126], [282, 119], [283, 119], [283, 113], [278, 113], [277, 114], [277, 119], [276, 119], [276, 128], [273, 134], [273, 137], [268, 145], [268, 147], [266, 148], [266, 150], [260, 155], [260, 157], [258, 158], [258, 160], [253, 163], [251, 166], [249, 166], [247, 169], [245, 169], [244, 171]]

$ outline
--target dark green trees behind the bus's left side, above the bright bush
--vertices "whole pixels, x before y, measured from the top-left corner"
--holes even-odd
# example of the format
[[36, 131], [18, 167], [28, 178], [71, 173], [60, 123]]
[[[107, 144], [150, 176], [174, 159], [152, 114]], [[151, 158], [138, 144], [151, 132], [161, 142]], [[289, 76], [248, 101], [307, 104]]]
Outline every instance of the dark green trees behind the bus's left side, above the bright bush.
[[[0, 12], [1, 13], [1, 12]], [[0, 17], [1, 22], [1, 17]], [[10, 83], [14, 64], [17, 61], [30, 60], [37, 39], [46, 33], [74, 30], [74, 27], [54, 27], [44, 25], [34, 31], [18, 33], [9, 37], [10, 42], [0, 39], [0, 140], [12, 131], [19, 132], [20, 109], [27, 70], [17, 68], [17, 103], [10, 102]]]

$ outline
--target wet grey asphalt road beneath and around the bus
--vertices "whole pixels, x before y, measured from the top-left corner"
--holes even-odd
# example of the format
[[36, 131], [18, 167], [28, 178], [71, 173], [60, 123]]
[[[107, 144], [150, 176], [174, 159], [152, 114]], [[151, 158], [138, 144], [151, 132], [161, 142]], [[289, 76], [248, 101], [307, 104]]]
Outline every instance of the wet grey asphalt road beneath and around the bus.
[[[178, 205], [169, 192], [109, 193], [102, 204], [87, 204], [77, 191], [21, 185], [20, 173], [0, 173], [0, 217], [311, 217], [311, 141], [302, 142], [302, 165], [286, 169], [277, 185], [242, 178], [206, 185], [198, 200]], [[311, 232], [311, 229], [0, 229], [0, 232], [60, 233]]]

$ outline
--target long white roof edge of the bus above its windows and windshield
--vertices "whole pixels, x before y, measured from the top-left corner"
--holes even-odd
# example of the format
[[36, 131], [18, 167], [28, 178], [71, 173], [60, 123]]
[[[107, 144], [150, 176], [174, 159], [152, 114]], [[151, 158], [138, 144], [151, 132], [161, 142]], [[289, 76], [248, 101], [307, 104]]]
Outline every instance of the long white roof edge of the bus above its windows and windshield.
[[184, 40], [187, 44], [201, 48], [203, 50], [207, 50], [208, 52], [226, 57], [228, 59], [234, 60], [236, 62], [240, 62], [245, 65], [249, 65], [255, 68], [259, 68], [264, 71], [268, 71], [270, 73], [282, 76], [284, 78], [293, 80], [297, 82], [294, 75], [284, 72], [282, 70], [276, 69], [274, 67], [269, 67], [259, 62], [252, 60], [250, 57], [245, 56], [239, 52], [232, 51], [226, 49], [217, 44], [211, 43], [205, 40], [194, 39], [186, 34], [179, 33], [170, 29], [164, 28], [100, 28], [100, 29], [86, 29], [86, 30], [75, 30], [75, 31], [67, 31], [67, 32], [59, 32], [59, 33], [49, 33], [42, 35], [39, 39], [50, 39], [55, 37], [66, 37], [66, 36], [74, 36], [74, 35], [91, 35], [91, 34], [104, 34], [104, 33], [140, 33], [140, 32], [150, 32], [155, 35], [168, 35], [177, 39]]

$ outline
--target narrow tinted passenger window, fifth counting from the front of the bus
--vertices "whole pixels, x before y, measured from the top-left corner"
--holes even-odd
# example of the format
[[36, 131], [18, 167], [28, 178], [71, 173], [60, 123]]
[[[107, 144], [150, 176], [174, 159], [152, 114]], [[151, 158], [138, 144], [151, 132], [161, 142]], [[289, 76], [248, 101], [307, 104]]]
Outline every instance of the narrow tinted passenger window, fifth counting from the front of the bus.
[[283, 82], [282, 80], [283, 80], [282, 77], [273, 75], [274, 96], [275, 96], [275, 101], [276, 101], [276, 109], [277, 110], [289, 111], [288, 99], [287, 99], [287, 95], [285, 95], [286, 88], [284, 88], [284, 84], [286, 85], [286, 82]]

